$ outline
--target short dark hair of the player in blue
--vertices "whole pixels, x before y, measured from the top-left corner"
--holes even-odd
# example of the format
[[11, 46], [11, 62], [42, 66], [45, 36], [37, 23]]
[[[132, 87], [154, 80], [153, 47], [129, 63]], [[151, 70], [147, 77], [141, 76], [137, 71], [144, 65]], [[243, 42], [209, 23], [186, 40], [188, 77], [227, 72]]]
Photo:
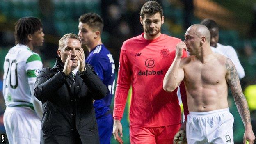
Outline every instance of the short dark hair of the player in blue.
[[99, 16], [96, 13], [86, 13], [80, 16], [79, 21], [82, 23], [86, 23], [87, 25], [89, 25], [89, 27], [91, 27], [91, 29], [98, 30], [101, 32], [103, 32], [103, 19], [101, 18], [101, 16]]

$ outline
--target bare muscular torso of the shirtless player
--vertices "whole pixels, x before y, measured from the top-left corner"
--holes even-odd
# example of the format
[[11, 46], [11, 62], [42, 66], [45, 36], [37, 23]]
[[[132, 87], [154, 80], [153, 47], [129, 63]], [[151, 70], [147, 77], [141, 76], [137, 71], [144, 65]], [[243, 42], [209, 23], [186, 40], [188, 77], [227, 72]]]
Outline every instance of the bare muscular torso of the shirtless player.
[[187, 105], [189, 111], [206, 112], [228, 107], [226, 57], [213, 53], [202, 63], [195, 56], [183, 60]]

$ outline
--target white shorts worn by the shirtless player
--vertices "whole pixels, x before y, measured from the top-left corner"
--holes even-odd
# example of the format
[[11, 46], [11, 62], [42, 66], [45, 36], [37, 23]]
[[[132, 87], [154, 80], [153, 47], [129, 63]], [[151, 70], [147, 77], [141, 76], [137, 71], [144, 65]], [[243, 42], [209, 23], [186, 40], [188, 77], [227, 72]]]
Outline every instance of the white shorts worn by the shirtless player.
[[187, 115], [187, 144], [234, 144], [234, 117], [229, 108]]

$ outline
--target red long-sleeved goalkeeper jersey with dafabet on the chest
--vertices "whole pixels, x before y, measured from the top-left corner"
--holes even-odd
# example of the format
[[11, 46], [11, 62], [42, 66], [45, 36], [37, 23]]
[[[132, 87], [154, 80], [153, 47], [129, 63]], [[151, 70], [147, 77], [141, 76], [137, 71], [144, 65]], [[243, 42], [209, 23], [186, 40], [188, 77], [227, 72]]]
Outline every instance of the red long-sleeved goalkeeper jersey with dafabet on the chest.
[[[143, 35], [126, 40], [121, 48], [114, 119], [120, 120], [123, 116], [132, 85], [130, 125], [159, 127], [181, 123], [177, 89], [171, 93], [163, 89], [165, 73], [174, 60], [176, 44], [181, 39], [161, 34], [154, 40], [146, 40]], [[185, 51], [183, 57], [187, 57]], [[181, 94], [185, 100], [184, 85]]]

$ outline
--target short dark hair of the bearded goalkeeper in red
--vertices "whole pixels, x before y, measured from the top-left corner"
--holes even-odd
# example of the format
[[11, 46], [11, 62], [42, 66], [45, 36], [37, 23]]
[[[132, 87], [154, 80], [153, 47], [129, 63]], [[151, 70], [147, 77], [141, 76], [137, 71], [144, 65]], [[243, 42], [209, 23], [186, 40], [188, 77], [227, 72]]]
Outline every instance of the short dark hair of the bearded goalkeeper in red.
[[140, 16], [144, 18], [145, 14], [152, 16], [153, 14], [156, 14], [158, 12], [160, 13], [162, 19], [162, 16], [164, 14], [161, 5], [159, 5], [159, 3], [156, 1], [148, 1], [142, 6], [140, 10]]

